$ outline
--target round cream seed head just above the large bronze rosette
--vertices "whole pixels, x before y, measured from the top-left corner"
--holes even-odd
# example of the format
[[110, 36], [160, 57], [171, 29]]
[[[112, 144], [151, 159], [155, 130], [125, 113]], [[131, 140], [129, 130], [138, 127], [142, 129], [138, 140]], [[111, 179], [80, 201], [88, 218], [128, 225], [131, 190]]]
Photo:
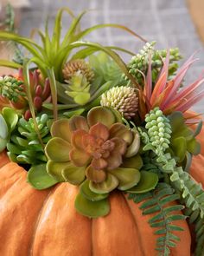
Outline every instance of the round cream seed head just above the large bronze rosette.
[[124, 118], [131, 119], [137, 112], [137, 92], [131, 87], [114, 87], [101, 96], [101, 106], [116, 108]]

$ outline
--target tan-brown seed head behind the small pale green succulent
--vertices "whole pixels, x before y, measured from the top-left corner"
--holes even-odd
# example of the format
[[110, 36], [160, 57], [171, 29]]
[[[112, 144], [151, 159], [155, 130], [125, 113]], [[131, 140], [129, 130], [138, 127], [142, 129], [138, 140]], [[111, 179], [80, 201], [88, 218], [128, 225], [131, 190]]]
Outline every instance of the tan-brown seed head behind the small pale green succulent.
[[69, 81], [72, 78], [72, 76], [79, 71], [82, 75], [86, 76], [86, 80], [88, 82], [92, 82], [94, 73], [92, 69], [89, 67], [89, 65], [82, 59], [73, 60], [65, 64], [65, 67], [62, 70], [64, 80]]

